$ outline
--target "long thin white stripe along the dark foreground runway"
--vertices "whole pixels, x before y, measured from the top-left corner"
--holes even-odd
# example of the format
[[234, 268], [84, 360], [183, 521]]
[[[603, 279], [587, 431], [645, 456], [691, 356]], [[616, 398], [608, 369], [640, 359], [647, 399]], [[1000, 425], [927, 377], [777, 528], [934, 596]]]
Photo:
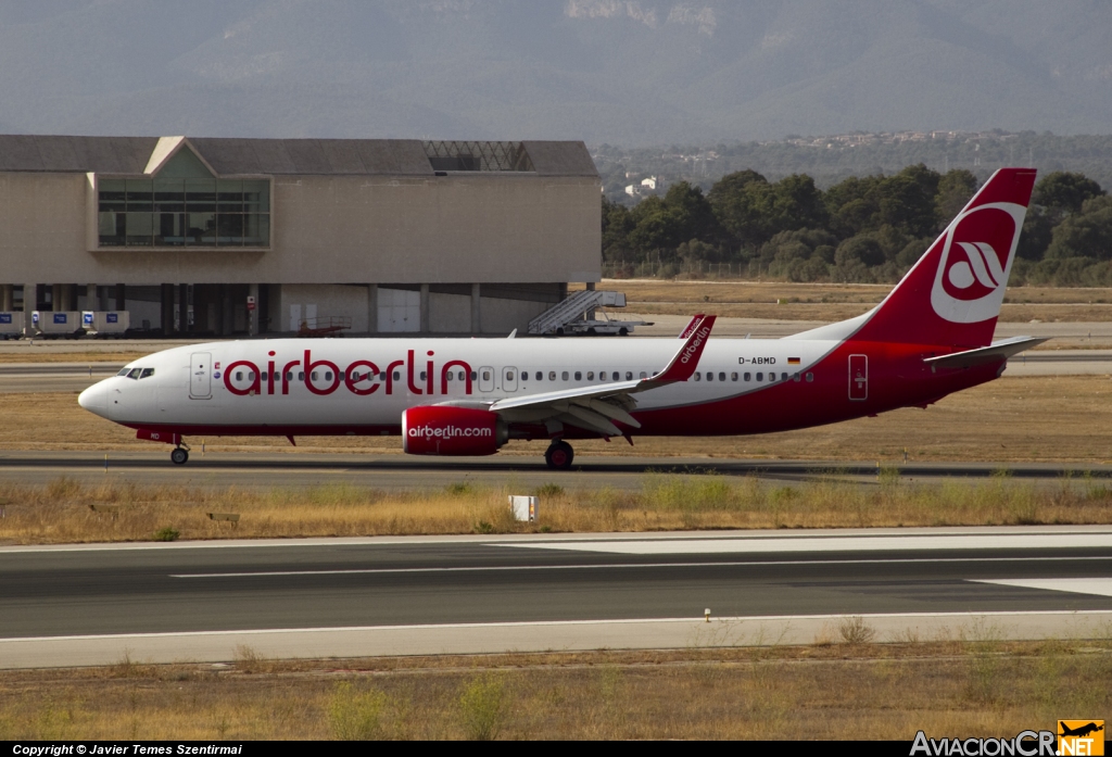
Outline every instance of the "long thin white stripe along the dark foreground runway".
[[260, 570], [256, 572], [190, 572], [170, 574], [170, 578], [267, 578], [274, 576], [359, 576], [378, 574], [485, 572], [517, 570], [590, 570], [606, 568], [749, 568], [785, 565], [907, 565], [961, 562], [1061, 562], [1112, 560], [1108, 557], [912, 557], [893, 560], [748, 560], [729, 562], [613, 562], [597, 565], [486, 565], [451, 568], [350, 568], [340, 570]]

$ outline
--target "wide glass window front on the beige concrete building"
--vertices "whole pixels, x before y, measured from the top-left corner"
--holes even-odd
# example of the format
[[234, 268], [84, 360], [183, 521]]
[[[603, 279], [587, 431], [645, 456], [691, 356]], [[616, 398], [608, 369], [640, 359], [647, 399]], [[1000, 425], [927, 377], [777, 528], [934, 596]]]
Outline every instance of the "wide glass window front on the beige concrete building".
[[265, 179], [100, 179], [100, 247], [269, 247]]

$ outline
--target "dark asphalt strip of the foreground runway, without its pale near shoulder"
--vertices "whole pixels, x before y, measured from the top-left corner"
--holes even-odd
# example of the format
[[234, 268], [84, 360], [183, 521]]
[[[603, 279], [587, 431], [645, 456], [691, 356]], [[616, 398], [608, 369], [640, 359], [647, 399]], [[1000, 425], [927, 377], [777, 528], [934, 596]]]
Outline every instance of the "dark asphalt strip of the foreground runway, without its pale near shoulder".
[[[1106, 546], [969, 549], [932, 536], [926, 548], [906, 550], [895, 544], [907, 538], [900, 535], [891, 545], [835, 551], [796, 550], [782, 538], [775, 549], [785, 551], [767, 551], [742, 535], [709, 554], [686, 551], [708, 546], [689, 536], [678, 551], [634, 555], [599, 551], [597, 539], [560, 548], [492, 538], [8, 548], [0, 549], [0, 638], [652, 619], [698, 617], [705, 608], [729, 617], [1112, 610], [1109, 596], [979, 582], [1096, 577], [1112, 586], [1112, 529], [1090, 535], [1098, 531]], [[576, 548], [583, 544], [593, 550]], [[643, 544], [652, 550], [659, 541]]]

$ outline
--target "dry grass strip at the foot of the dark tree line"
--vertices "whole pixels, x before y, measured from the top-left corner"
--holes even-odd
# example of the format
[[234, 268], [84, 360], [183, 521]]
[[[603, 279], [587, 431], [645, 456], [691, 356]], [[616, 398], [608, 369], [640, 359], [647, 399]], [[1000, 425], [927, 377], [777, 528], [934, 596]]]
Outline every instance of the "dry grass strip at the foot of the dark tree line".
[[[836, 321], [880, 302], [891, 285], [776, 281], [663, 281], [606, 279], [599, 289], [626, 295], [627, 309], [645, 315], [706, 310], [728, 318]], [[1012, 287], [1000, 319], [1027, 322], [1112, 320], [1112, 289]]]

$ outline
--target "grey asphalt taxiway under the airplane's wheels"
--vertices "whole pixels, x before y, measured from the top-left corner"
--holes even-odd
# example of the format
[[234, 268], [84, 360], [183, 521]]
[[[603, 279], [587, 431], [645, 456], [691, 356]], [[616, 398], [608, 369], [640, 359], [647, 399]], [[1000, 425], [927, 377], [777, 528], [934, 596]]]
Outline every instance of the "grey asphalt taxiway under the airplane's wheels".
[[[0, 476], [19, 484], [42, 485], [61, 476], [82, 484], [133, 481], [143, 485], [195, 487], [314, 487], [350, 484], [381, 490], [443, 489], [471, 482], [517, 487], [523, 494], [558, 481], [569, 491], [612, 487], [641, 490], [646, 476], [657, 474], [716, 474], [758, 476], [782, 481], [837, 477], [874, 482], [875, 462], [834, 460], [744, 460], [707, 457], [576, 457], [567, 471], [553, 471], [537, 455], [487, 458], [425, 458], [404, 455], [335, 455], [316, 452], [208, 452], [195, 448], [189, 462], [175, 466], [169, 447], [143, 451], [0, 451]], [[911, 481], [944, 478], [984, 479], [1007, 471], [1016, 480], [1045, 480], [1060, 485], [1063, 476], [1112, 478], [1112, 465], [907, 462], [894, 466]]]

